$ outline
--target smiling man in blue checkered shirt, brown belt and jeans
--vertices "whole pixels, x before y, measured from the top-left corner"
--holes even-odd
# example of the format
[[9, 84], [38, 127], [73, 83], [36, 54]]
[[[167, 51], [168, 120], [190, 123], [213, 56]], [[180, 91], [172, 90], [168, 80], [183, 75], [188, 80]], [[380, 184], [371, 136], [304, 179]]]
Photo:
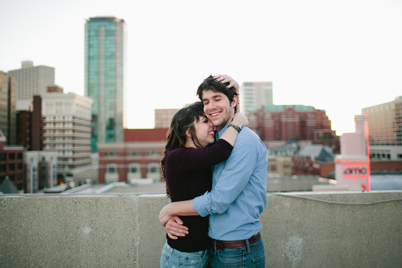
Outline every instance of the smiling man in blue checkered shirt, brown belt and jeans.
[[[204, 113], [217, 129], [219, 139], [237, 111], [238, 94], [229, 87], [231, 78], [209, 76], [197, 90]], [[193, 200], [165, 206], [163, 226], [175, 215], [210, 215], [208, 235], [213, 239], [213, 267], [264, 267], [265, 250], [259, 216], [266, 206], [266, 147], [249, 128], [240, 131], [232, 154], [213, 167], [212, 191]], [[179, 221], [177, 219], [177, 221]], [[179, 222], [180, 223], [180, 222]], [[182, 224], [182, 223], [181, 223]], [[183, 229], [185, 227], [178, 227]], [[177, 233], [184, 233], [183, 230]]]

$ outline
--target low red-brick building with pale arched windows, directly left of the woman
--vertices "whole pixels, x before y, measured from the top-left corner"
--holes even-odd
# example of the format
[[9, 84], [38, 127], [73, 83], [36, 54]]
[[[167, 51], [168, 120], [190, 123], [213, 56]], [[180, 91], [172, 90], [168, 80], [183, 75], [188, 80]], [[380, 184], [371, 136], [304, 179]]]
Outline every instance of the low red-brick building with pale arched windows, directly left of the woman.
[[125, 129], [123, 142], [98, 143], [99, 183], [150, 178], [161, 181], [167, 128]]

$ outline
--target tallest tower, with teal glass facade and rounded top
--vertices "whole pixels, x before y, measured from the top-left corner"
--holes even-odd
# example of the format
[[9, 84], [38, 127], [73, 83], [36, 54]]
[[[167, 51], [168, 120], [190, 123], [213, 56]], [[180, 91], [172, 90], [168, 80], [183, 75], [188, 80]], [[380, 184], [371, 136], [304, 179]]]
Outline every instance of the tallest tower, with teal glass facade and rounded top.
[[85, 96], [93, 100], [91, 150], [96, 142], [123, 141], [126, 24], [95, 17], [85, 24]]

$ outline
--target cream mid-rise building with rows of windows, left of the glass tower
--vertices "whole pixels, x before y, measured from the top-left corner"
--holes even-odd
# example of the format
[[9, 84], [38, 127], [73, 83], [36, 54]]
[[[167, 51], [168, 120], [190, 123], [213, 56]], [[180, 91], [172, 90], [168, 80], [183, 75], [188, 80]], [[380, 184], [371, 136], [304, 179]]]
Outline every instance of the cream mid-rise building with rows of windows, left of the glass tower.
[[73, 93], [61, 92], [49, 92], [41, 97], [44, 123], [43, 149], [57, 151], [58, 176], [64, 178], [72, 176], [77, 170], [91, 164], [92, 100]]

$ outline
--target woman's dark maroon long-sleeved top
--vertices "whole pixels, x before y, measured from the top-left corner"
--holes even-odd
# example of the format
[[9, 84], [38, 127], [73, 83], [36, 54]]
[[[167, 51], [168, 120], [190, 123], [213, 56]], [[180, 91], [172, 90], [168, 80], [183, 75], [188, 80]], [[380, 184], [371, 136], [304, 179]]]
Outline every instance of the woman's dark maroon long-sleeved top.
[[[172, 202], [191, 200], [204, 195], [212, 188], [211, 166], [228, 159], [233, 146], [219, 139], [214, 145], [203, 148], [178, 148], [165, 156], [165, 176]], [[209, 216], [180, 216], [188, 234], [167, 243], [182, 252], [196, 252], [211, 247], [208, 237]]]

